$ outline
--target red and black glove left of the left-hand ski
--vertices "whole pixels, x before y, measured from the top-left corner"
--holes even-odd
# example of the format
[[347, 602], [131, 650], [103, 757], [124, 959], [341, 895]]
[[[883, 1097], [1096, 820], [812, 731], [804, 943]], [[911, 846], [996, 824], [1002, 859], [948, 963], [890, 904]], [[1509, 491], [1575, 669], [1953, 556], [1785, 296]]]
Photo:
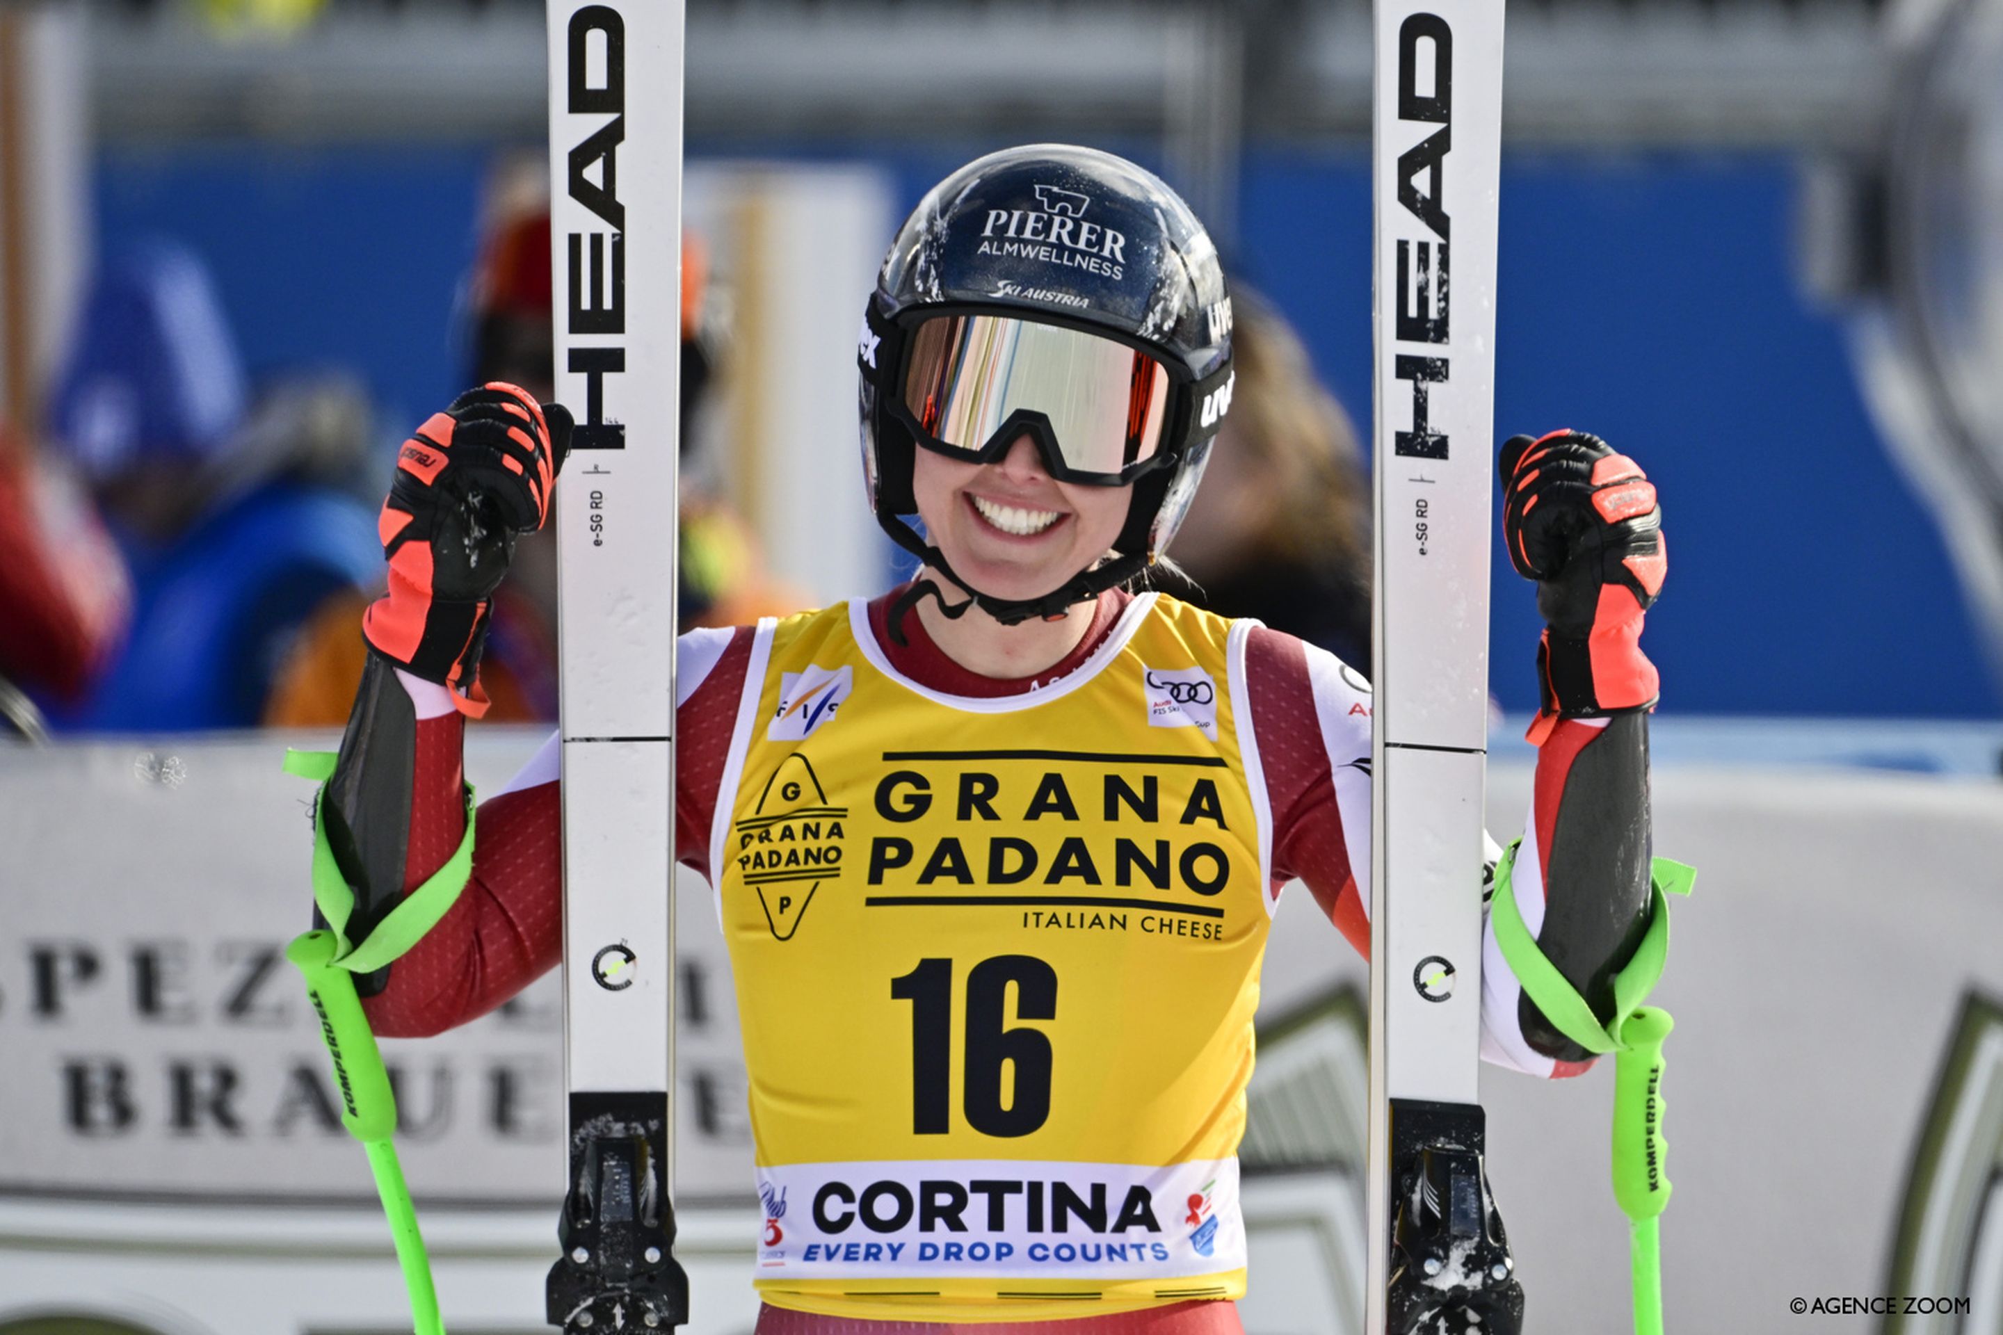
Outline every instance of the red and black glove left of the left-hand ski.
[[389, 592], [363, 616], [387, 658], [453, 693], [479, 719], [489, 598], [515, 556], [515, 534], [549, 518], [549, 492], [571, 448], [571, 412], [493, 380], [433, 412], [397, 454], [377, 530]]

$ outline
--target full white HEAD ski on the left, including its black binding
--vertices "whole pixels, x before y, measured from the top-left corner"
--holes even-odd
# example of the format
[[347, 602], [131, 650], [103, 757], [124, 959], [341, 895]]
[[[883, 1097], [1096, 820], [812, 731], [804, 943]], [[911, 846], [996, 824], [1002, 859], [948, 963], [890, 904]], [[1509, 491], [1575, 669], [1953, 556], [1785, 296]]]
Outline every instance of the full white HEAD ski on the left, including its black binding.
[[681, 0], [551, 0], [567, 1197], [547, 1317], [683, 1325], [673, 717]]

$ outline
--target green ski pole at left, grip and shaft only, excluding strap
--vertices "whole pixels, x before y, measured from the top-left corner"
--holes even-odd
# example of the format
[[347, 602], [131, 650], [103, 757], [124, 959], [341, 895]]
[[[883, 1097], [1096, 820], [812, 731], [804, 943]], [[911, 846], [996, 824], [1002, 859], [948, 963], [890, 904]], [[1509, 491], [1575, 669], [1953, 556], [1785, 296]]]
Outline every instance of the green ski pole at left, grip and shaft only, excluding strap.
[[413, 1327], [417, 1335], [445, 1335], [439, 1293], [431, 1283], [431, 1257], [397, 1161], [397, 1095], [363, 1013], [363, 999], [355, 993], [355, 975], [335, 963], [339, 953], [341, 941], [330, 931], [300, 933], [284, 949], [284, 957], [306, 977], [312, 1013], [320, 1017], [320, 1039], [335, 1061], [335, 1085], [341, 1089], [341, 1121], [363, 1143], [375, 1171], [377, 1195], [383, 1197], [383, 1213], [389, 1215], [391, 1237], [397, 1241], [397, 1263], [403, 1265], [403, 1285], [411, 1293]]

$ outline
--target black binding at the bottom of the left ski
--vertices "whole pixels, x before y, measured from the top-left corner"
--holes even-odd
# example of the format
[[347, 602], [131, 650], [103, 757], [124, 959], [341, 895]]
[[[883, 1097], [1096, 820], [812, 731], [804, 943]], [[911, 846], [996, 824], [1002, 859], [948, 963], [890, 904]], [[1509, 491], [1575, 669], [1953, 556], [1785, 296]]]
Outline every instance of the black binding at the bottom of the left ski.
[[669, 1331], [689, 1321], [667, 1193], [667, 1095], [573, 1093], [571, 1189], [547, 1319], [567, 1335]]

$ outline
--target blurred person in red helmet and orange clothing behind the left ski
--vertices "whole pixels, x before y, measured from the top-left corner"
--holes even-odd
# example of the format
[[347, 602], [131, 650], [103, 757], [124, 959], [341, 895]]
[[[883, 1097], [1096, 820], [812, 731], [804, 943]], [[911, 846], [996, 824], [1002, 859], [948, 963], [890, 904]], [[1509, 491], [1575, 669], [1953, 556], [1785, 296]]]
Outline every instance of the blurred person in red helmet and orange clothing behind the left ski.
[[[695, 420], [707, 400], [717, 344], [723, 342], [709, 300], [701, 242], [681, 250], [681, 448], [687, 462]], [[551, 322], [549, 210], [517, 208], [493, 230], [471, 282], [469, 380], [507, 380], [537, 398], [555, 396]], [[387, 486], [387, 476], [379, 480]], [[381, 560], [379, 560], [381, 564]], [[381, 582], [381, 572], [377, 572]], [[681, 478], [681, 624], [731, 626], [783, 616], [803, 598], [765, 578], [757, 542], [735, 514]], [[314, 612], [280, 673], [266, 723], [339, 727], [363, 677], [361, 618], [367, 596], [332, 600]], [[525, 534], [509, 580], [495, 594], [481, 685], [495, 723], [557, 717], [557, 538], [555, 522]]]

